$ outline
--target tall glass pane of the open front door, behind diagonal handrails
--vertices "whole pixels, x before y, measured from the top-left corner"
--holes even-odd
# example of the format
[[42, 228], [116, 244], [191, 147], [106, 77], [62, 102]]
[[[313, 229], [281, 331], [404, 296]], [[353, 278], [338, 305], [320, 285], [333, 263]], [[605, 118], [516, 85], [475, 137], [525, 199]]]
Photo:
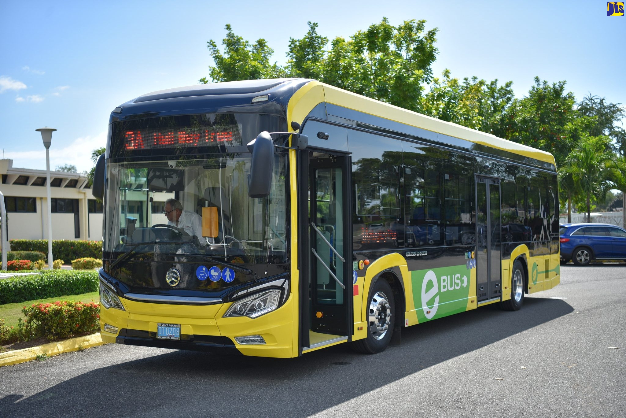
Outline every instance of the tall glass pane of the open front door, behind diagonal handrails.
[[[344, 282], [344, 267], [341, 259], [332, 251], [331, 244], [337, 253], [344, 251], [344, 224], [343, 224], [343, 182], [342, 170], [339, 168], [324, 168], [316, 170], [315, 224], [322, 236], [312, 231], [314, 248], [321, 261], [316, 259], [316, 290], [317, 303], [321, 305], [342, 305], [344, 290], [332, 278], [329, 269], [341, 283]], [[323, 238], [322, 238], [323, 237]]]

